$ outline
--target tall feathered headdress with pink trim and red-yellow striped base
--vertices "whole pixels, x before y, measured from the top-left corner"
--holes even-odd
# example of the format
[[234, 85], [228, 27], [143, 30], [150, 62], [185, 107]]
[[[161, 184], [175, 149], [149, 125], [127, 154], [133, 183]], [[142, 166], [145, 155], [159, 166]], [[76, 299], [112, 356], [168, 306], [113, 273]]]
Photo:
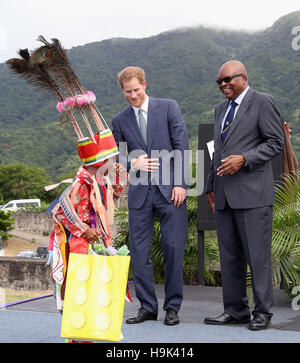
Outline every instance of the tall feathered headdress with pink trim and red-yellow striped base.
[[[101, 112], [95, 105], [96, 96], [86, 91], [73, 71], [66, 51], [58, 39], [49, 43], [43, 36], [38, 40], [43, 46], [29, 53], [19, 50], [21, 58], [6, 61], [10, 70], [29, 84], [50, 92], [59, 99], [57, 109], [67, 115], [77, 135], [77, 149], [84, 165], [94, 165], [118, 154], [114, 137]], [[79, 126], [83, 120], [89, 132], [84, 137]], [[91, 122], [97, 127], [94, 134]]]

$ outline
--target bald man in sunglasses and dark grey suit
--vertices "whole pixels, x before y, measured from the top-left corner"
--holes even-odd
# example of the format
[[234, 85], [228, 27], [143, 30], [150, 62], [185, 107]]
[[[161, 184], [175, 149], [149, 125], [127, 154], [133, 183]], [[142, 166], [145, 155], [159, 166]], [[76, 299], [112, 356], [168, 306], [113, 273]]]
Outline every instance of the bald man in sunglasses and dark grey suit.
[[[282, 120], [271, 95], [248, 86], [245, 66], [225, 63], [217, 84], [227, 100], [215, 109], [215, 151], [206, 185], [215, 213], [224, 313], [207, 324], [267, 329], [272, 314], [271, 239], [274, 180], [271, 160], [284, 146]], [[251, 269], [253, 318], [246, 295]]]

